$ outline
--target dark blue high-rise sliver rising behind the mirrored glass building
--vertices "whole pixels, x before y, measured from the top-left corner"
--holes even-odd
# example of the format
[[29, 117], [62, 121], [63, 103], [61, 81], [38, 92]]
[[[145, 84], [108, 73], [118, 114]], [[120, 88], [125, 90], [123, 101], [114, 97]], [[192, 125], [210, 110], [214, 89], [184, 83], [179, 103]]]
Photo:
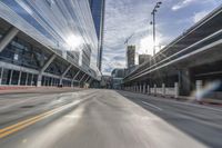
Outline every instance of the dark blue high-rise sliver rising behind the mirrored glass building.
[[102, 50], [103, 50], [103, 29], [104, 29], [104, 9], [105, 0], [89, 0], [90, 8], [92, 11], [92, 18], [94, 21], [94, 27], [98, 37], [98, 61], [97, 65], [101, 70], [102, 66]]

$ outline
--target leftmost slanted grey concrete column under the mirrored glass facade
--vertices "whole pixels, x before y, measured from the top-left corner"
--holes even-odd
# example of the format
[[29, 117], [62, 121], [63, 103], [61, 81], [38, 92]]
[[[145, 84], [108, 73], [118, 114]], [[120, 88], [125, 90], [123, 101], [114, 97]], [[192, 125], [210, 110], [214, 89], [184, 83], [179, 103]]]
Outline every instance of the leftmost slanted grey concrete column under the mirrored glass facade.
[[9, 29], [7, 34], [3, 36], [3, 38], [0, 41], [0, 52], [11, 42], [11, 40], [17, 36], [18, 32], [19, 29], [17, 29], [16, 27]]

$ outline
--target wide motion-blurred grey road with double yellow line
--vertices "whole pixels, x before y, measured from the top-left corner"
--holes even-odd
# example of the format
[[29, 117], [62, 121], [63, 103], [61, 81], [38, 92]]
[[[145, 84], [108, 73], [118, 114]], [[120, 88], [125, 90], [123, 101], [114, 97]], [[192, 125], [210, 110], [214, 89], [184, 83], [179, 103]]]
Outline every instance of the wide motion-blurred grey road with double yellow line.
[[222, 147], [222, 109], [88, 89], [0, 95], [0, 148]]

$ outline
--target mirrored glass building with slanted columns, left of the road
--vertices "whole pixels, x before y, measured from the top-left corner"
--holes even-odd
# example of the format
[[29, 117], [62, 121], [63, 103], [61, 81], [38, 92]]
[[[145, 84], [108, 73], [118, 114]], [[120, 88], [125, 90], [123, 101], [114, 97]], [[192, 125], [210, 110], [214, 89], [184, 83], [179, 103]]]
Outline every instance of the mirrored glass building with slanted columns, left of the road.
[[0, 85], [99, 80], [94, 28], [89, 0], [1, 0]]

